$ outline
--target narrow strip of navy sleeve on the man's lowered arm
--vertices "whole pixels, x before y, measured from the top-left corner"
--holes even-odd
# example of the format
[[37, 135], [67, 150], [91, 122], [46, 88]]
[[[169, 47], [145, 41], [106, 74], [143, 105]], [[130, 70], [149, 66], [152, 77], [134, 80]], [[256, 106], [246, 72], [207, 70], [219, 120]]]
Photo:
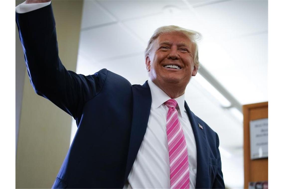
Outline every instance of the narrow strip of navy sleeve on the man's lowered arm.
[[216, 147], [217, 147], [218, 167], [217, 167], [217, 175], [215, 177], [212, 188], [225, 188], [223, 173], [222, 173], [222, 163], [221, 163], [221, 157], [220, 157], [220, 151], [219, 151], [219, 137], [217, 133], [216, 133]]

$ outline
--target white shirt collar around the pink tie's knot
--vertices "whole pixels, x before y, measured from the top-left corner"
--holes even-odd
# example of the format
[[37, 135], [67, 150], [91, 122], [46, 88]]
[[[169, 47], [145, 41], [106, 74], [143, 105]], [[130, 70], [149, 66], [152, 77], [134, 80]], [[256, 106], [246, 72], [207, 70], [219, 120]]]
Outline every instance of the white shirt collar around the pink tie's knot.
[[[150, 79], [148, 80], [148, 84], [151, 90], [151, 96], [152, 96], [152, 106], [157, 109], [160, 105], [162, 105], [164, 102], [171, 99], [162, 89], [160, 89], [156, 84], [153, 83]], [[175, 98], [175, 100], [178, 103], [177, 110], [180, 111], [180, 114], [182, 116], [181, 112], [184, 112], [184, 97], [185, 94]]]

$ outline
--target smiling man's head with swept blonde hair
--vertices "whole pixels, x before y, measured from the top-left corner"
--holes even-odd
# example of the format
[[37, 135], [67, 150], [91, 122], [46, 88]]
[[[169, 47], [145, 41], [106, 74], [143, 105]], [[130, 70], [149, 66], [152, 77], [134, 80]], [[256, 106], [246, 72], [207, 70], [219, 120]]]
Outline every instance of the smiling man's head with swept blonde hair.
[[[158, 37], [154, 39], [155, 36]], [[149, 41], [145, 56], [150, 79], [171, 98], [181, 96], [191, 76], [197, 74], [197, 45], [193, 37], [198, 36], [195, 31], [167, 26], [158, 28]]]

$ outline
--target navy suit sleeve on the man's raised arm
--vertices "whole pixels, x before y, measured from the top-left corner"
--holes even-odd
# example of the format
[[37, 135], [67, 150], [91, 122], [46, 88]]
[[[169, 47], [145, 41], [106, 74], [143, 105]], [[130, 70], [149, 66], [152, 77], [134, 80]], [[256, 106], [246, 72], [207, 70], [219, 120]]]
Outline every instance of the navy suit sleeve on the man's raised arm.
[[58, 55], [51, 4], [31, 12], [16, 13], [16, 23], [35, 92], [76, 119], [84, 103], [101, 90], [106, 70], [84, 76], [65, 69]]

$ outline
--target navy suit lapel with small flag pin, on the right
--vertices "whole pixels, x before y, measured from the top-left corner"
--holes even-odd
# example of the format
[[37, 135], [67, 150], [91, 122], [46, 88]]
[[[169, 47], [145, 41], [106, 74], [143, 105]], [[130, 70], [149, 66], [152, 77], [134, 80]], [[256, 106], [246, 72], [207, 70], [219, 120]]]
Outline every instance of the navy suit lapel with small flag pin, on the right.
[[205, 129], [199, 127], [197, 117], [190, 111], [187, 103], [185, 102], [184, 107], [187, 111], [190, 124], [193, 130], [193, 134], [196, 142], [197, 150], [197, 173], [196, 173], [196, 184], [195, 188], [208, 188], [208, 183], [210, 183], [208, 175], [208, 153], [207, 153], [207, 142], [205, 139]]

